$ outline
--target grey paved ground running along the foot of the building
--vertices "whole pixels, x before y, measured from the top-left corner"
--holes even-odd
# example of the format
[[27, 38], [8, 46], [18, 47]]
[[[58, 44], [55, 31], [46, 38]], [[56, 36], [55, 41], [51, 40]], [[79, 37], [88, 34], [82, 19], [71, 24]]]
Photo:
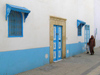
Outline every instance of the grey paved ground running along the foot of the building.
[[100, 75], [100, 48], [17, 75]]

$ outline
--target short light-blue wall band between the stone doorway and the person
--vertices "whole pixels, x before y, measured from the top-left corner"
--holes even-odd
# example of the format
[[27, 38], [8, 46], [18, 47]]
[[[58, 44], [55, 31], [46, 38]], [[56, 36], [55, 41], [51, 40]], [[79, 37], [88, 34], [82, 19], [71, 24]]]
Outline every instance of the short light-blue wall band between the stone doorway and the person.
[[66, 58], [85, 52], [85, 43], [66, 44]]

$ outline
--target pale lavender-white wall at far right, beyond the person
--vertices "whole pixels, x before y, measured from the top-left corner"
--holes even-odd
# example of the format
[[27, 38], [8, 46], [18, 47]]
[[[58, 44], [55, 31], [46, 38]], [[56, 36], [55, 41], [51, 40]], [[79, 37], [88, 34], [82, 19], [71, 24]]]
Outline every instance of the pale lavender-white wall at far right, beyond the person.
[[[100, 46], [100, 0], [95, 0], [95, 29], [97, 28], [96, 47]], [[95, 31], [94, 29], [94, 31]]]

